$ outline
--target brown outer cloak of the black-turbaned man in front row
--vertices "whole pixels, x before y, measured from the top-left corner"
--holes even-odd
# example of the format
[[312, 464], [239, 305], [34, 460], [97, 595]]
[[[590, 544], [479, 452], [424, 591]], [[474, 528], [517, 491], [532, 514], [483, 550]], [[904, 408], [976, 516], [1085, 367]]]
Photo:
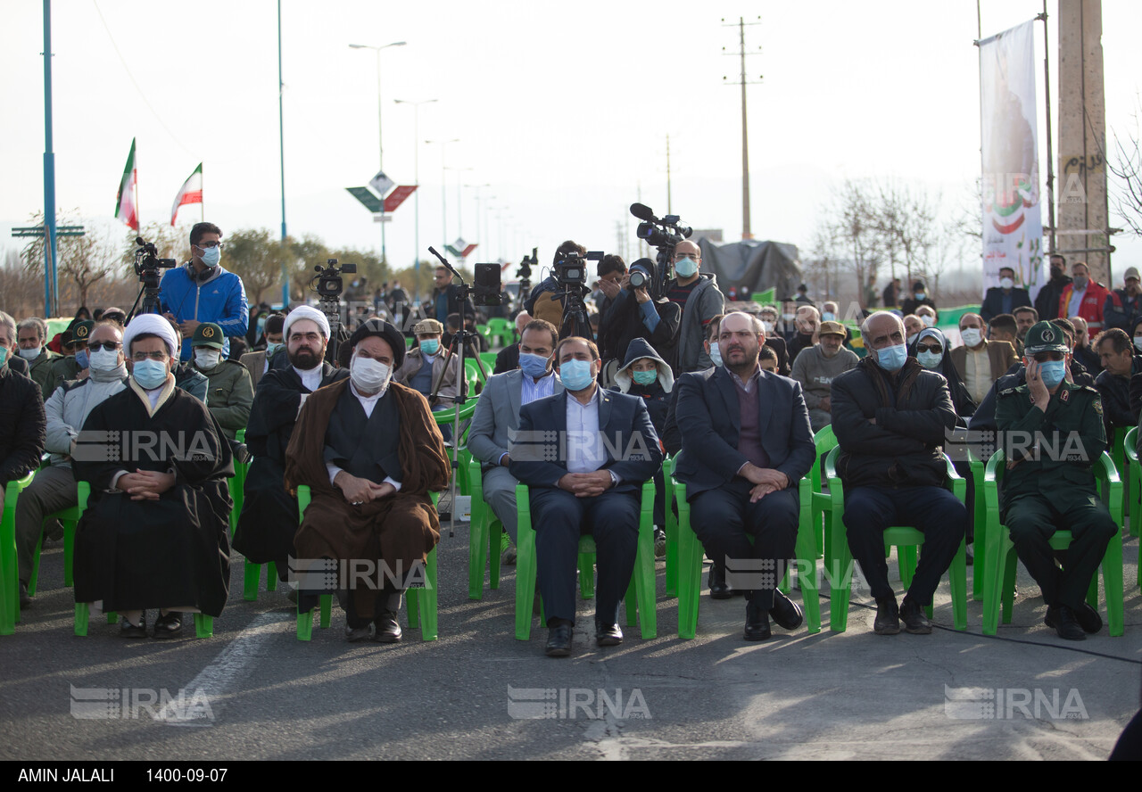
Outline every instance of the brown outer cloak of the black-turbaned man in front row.
[[[286, 488], [299, 485], [312, 491], [309, 508], [293, 544], [298, 558], [365, 559], [384, 561], [408, 574], [415, 561], [424, 564], [440, 541], [440, 518], [429, 492], [448, 486], [451, 462], [444, 450], [428, 401], [403, 385], [389, 382], [388, 397], [400, 414], [401, 491], [379, 501], [353, 506], [329, 482], [325, 468], [325, 433], [348, 378], [315, 390], [301, 407], [286, 450]], [[396, 565], [400, 565], [399, 567]], [[360, 616], [373, 616], [373, 592], [354, 591]]]

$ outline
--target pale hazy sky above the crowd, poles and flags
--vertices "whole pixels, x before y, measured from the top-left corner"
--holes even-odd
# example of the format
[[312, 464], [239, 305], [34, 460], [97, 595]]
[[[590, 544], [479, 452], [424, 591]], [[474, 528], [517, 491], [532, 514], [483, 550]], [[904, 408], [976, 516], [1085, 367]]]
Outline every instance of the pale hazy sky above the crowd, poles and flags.
[[[1042, 1], [986, 0], [983, 35], [1040, 10]], [[539, 247], [546, 264], [569, 237], [630, 254], [627, 207], [640, 187], [642, 202], [666, 213], [667, 135], [674, 211], [739, 239], [740, 91], [723, 84], [738, 78], [738, 58], [723, 55], [737, 50], [738, 30], [722, 26], [739, 14], [761, 17], [746, 29], [747, 50], [759, 52], [748, 75], [764, 75], [749, 87], [748, 113], [757, 237], [807, 245], [846, 177], [923, 183], [949, 205], [966, 202], [980, 170], [970, 0], [283, 0], [288, 229], [379, 249], [380, 226], [344, 189], [378, 168], [376, 55], [348, 45], [407, 41], [381, 52], [384, 164], [397, 184], [415, 184], [413, 110], [393, 99], [437, 99], [419, 111], [421, 251], [443, 241], [448, 164], [471, 169], [445, 171], [443, 191], [448, 241], [463, 231], [484, 243], [469, 261], [518, 260]], [[43, 205], [41, 3], [0, 0], [0, 18], [2, 249], [19, 247], [9, 227]], [[1108, 124], [1126, 132], [1136, 128], [1142, 3], [1105, 0], [1103, 29]], [[279, 232], [275, 2], [56, 0], [51, 32], [61, 210], [110, 221], [135, 137], [144, 221], [169, 223], [175, 193], [201, 161], [208, 219], [224, 233]], [[1042, 63], [1042, 26], [1036, 38]], [[1040, 70], [1040, 97], [1042, 79]], [[1045, 140], [1043, 118], [1040, 106]], [[445, 162], [440, 145], [423, 143], [452, 138]], [[458, 183], [491, 185], [478, 191], [478, 228], [477, 191], [461, 187], [458, 210]], [[413, 211], [410, 199], [388, 226], [397, 267], [413, 260]], [[196, 207], [180, 213], [198, 216]], [[1116, 273], [1137, 264], [1142, 245], [1116, 244]]]

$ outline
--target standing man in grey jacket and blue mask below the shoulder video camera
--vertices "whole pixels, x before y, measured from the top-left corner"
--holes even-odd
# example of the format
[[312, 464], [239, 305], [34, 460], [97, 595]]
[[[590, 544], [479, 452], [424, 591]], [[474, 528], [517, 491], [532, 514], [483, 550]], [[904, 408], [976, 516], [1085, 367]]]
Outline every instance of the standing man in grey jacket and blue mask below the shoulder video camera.
[[713, 275], [702, 275], [702, 251], [683, 240], [674, 248], [675, 278], [666, 284], [666, 298], [682, 312], [671, 365], [675, 374], [703, 371], [714, 365], [706, 353], [706, 326], [725, 310], [725, 297]]

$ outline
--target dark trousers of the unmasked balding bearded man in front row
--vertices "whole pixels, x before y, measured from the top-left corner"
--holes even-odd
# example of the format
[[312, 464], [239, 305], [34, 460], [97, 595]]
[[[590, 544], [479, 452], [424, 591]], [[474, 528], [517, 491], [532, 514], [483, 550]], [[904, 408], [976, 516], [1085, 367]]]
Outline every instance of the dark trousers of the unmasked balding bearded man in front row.
[[[716, 490], [698, 493], [690, 500], [690, 524], [706, 555], [727, 567], [726, 582], [745, 589], [747, 598], [769, 611], [773, 607], [773, 589], [785, 576], [786, 565], [797, 547], [801, 509], [795, 488], [771, 492], [750, 503], [751, 488], [749, 482], [739, 477]], [[762, 563], [750, 564], [750, 560]]]

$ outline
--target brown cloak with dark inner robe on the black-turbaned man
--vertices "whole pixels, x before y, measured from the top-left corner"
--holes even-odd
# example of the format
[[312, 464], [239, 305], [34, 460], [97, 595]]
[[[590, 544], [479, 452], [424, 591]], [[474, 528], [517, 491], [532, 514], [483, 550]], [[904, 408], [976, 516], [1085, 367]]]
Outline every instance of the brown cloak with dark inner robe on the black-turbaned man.
[[[360, 411], [355, 418], [354, 409]], [[298, 485], [308, 485], [312, 501], [293, 543], [299, 559], [362, 559], [408, 574], [417, 563], [423, 568], [440, 540], [440, 518], [429, 493], [448, 486], [451, 463], [428, 401], [416, 390], [389, 382], [372, 418], [377, 420], [364, 420], [364, 409], [347, 380], [319, 389], [301, 407], [286, 453], [286, 486], [296, 492]], [[364, 430], [351, 437], [359, 421]], [[327, 448], [329, 461], [338, 467], [351, 472], [355, 467], [356, 475], [368, 472], [362, 477], [377, 484], [383, 483], [384, 472], [401, 483], [400, 492], [349, 503], [329, 480]], [[363, 585], [352, 591], [359, 616], [373, 617], [375, 593]]]

